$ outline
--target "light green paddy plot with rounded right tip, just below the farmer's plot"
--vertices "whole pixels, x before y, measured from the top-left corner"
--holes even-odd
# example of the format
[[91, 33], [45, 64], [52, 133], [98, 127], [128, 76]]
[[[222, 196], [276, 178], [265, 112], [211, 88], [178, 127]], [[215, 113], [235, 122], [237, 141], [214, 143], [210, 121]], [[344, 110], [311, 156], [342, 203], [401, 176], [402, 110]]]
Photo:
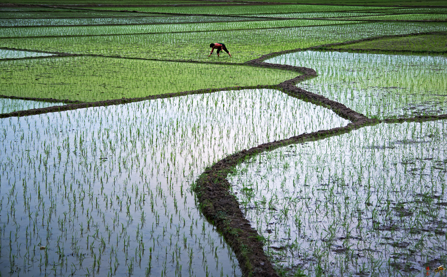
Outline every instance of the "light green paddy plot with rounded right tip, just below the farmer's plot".
[[[206, 53], [208, 50], [202, 55]], [[0, 73], [0, 94], [89, 102], [199, 88], [274, 85], [298, 75], [293, 71], [247, 66], [103, 57], [58, 57], [0, 64], [5, 68]]]

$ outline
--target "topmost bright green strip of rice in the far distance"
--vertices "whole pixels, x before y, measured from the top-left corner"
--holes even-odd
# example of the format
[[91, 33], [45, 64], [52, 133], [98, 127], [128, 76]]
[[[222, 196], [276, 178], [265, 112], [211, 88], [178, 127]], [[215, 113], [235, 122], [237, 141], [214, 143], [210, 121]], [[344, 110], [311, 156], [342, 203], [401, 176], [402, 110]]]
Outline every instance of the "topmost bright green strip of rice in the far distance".
[[[359, 10], [374, 10], [382, 9], [383, 7], [365, 7], [365, 6], [336, 6], [336, 5], [234, 5], [234, 6], [164, 6], [164, 7], [133, 7], [132, 9], [143, 12], [166, 12], [166, 13], [183, 13], [183, 14], [232, 14], [232, 15], [246, 15], [246, 14], [262, 14], [266, 10], [272, 13], [280, 12], [318, 12], [318, 11], [359, 11]], [[122, 10], [120, 7], [95, 7], [95, 10], [110, 9]]]

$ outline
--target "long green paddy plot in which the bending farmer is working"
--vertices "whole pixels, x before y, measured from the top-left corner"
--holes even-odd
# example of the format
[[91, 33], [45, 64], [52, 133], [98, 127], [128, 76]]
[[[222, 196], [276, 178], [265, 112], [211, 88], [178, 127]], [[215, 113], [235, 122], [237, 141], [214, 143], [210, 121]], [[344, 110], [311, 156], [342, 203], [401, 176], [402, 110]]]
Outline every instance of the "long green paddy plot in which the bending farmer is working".
[[[245, 62], [266, 53], [345, 42], [365, 37], [446, 31], [446, 24], [381, 22], [284, 29], [226, 32], [163, 33], [101, 37], [2, 38], [3, 47], [78, 54], [119, 55], [135, 58], [210, 61], [210, 41], [219, 38], [229, 49], [231, 62]], [[305, 38], [305, 39], [303, 39]], [[250, 43], [246, 43], [249, 41]], [[181, 43], [179, 43], [181, 42]], [[107, 47], [104, 47], [107, 45]], [[88, 47], [86, 47], [88, 46]], [[212, 57], [217, 56], [214, 55]], [[229, 57], [221, 57], [230, 59]]]

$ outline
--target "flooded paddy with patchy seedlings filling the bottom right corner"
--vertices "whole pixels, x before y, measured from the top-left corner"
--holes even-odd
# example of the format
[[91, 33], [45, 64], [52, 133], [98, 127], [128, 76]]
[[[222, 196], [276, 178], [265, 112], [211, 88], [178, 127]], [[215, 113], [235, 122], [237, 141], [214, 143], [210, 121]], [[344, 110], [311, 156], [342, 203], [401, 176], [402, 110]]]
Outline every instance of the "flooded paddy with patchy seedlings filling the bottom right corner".
[[446, 123], [283, 147], [228, 178], [288, 275], [420, 276], [447, 261]]

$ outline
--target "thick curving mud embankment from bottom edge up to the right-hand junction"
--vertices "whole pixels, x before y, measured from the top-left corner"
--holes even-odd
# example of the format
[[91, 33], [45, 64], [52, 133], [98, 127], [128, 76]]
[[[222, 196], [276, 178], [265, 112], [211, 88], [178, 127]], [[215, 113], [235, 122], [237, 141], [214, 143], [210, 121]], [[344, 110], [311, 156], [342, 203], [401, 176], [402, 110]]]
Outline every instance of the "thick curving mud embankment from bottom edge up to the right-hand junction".
[[377, 123], [378, 121], [375, 120], [349, 123], [346, 127], [263, 143], [225, 157], [199, 176], [193, 185], [199, 208], [205, 217], [218, 228], [234, 250], [244, 276], [276, 277], [278, 275], [264, 253], [261, 236], [251, 227], [250, 222], [240, 210], [236, 198], [229, 192], [230, 184], [226, 179], [228, 173], [240, 162], [261, 152], [290, 144], [339, 136]]

